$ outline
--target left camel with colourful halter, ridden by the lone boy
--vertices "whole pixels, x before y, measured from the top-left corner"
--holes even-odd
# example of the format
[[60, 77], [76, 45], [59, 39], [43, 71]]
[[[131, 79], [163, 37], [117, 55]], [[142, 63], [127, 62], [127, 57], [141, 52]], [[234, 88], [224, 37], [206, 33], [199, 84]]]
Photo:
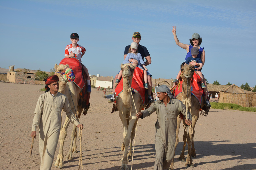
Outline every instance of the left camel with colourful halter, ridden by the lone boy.
[[[83, 114], [84, 115], [87, 114], [88, 107], [82, 109], [81, 105], [82, 105], [83, 102], [79, 102], [79, 98], [80, 98], [79, 93], [81, 92], [80, 88], [74, 82], [67, 82], [65, 80], [64, 74], [60, 74], [66, 67], [68, 67], [67, 69], [69, 69], [69, 65], [63, 65], [63, 64], [60, 64], [60, 65], [55, 64], [55, 67], [54, 67], [56, 69], [55, 74], [60, 79], [59, 80], [59, 92], [66, 95], [66, 97], [67, 97], [67, 99], [70, 103], [72, 112], [74, 114], [76, 113], [75, 116], [79, 120], [83, 110], [84, 110]], [[57, 73], [57, 72], [59, 72], [59, 73]], [[66, 120], [65, 120], [63, 126], [61, 127], [60, 136], [59, 136], [60, 150], [59, 150], [59, 154], [58, 154], [57, 159], [56, 159], [55, 164], [54, 164], [54, 166], [57, 167], [57, 168], [62, 168], [63, 165], [64, 165], [64, 162], [63, 162], [63, 157], [64, 157], [64, 155], [63, 155], [63, 145], [64, 145], [64, 140], [67, 136], [67, 128], [69, 126], [69, 123], [70, 123], [70, 120], [68, 119], [68, 117], [66, 117]], [[61, 125], [62, 125], [62, 121], [61, 121]], [[73, 126], [73, 131], [72, 131], [72, 134], [71, 134], [70, 150], [69, 150], [68, 155], [66, 157], [67, 160], [68, 159], [69, 160], [73, 159], [72, 158], [72, 152], [77, 153], [77, 150], [76, 150], [77, 149], [76, 133], [77, 133], [77, 127], [74, 125]]]

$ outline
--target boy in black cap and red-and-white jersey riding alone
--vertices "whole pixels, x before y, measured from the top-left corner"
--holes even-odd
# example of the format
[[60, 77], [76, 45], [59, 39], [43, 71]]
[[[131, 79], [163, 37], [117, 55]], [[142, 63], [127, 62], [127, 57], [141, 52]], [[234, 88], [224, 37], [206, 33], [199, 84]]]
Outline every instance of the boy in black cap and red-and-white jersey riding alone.
[[[65, 48], [65, 57], [66, 58], [76, 58], [78, 61], [82, 64], [81, 58], [84, 55], [86, 49], [82, 47], [81, 45], [77, 44], [79, 41], [79, 36], [77, 33], [72, 33], [70, 35], [70, 41], [71, 44], [67, 45]], [[88, 69], [85, 67], [84, 64], [82, 64], [83, 70], [85, 71], [87, 75], [87, 92], [91, 93], [91, 83], [90, 83], [90, 75], [88, 72]]]

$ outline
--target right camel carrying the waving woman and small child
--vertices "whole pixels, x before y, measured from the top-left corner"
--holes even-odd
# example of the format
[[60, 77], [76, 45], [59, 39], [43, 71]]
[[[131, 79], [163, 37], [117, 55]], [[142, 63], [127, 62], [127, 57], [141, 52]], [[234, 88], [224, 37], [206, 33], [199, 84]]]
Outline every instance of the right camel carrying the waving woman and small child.
[[[193, 73], [194, 73], [194, 66], [190, 64], [186, 64], [181, 67], [181, 78], [183, 80], [182, 82], [182, 93], [176, 96], [176, 99], [180, 100], [183, 102], [183, 104], [187, 104], [188, 102], [188, 111], [190, 111], [191, 116], [192, 116], [192, 125], [190, 126], [189, 132], [187, 132], [187, 128], [185, 121], [183, 120], [183, 126], [184, 126], [184, 134], [183, 134], [183, 149], [182, 153], [180, 154], [178, 160], [185, 160], [184, 152], [185, 152], [185, 147], [186, 147], [186, 142], [188, 143], [188, 156], [186, 159], [185, 166], [192, 166], [194, 167], [194, 164], [192, 163], [192, 157], [196, 157], [196, 150], [194, 148], [194, 134], [195, 134], [195, 126], [196, 122], [199, 118], [199, 109], [200, 109], [200, 103], [198, 102], [197, 98], [192, 95], [191, 96], [191, 79], [193, 78]], [[202, 101], [204, 101], [202, 99]], [[187, 106], [187, 105], [186, 105]], [[203, 106], [203, 102], [202, 102]], [[178, 117], [177, 118], [177, 129], [176, 129], [176, 142], [175, 142], [175, 150], [176, 147], [179, 143], [179, 128], [180, 128], [181, 120]], [[170, 169], [173, 170], [174, 166], [174, 158], [171, 163]]]

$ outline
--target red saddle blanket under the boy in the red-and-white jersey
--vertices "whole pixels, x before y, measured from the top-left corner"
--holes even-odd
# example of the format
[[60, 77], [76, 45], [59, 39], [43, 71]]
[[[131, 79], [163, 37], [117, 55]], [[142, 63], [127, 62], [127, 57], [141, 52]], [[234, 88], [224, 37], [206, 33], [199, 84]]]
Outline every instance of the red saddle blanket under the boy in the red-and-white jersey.
[[68, 64], [75, 74], [74, 83], [82, 90], [85, 86], [82, 76], [82, 65], [76, 58], [63, 58], [60, 64]]

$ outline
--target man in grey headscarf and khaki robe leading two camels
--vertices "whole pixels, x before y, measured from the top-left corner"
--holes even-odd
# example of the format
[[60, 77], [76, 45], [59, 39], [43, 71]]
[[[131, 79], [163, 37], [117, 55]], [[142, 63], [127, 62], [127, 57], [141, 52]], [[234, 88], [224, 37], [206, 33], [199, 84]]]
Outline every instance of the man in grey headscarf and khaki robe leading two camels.
[[[156, 159], [154, 170], [169, 169], [175, 153], [175, 140], [177, 117], [181, 112], [186, 116], [186, 107], [178, 99], [173, 99], [170, 89], [166, 85], [161, 85], [157, 90], [159, 100], [151, 104], [151, 106], [136, 114], [137, 118], [145, 118], [156, 111], [156, 136], [155, 149]], [[187, 125], [191, 124], [191, 114], [185, 120]]]

